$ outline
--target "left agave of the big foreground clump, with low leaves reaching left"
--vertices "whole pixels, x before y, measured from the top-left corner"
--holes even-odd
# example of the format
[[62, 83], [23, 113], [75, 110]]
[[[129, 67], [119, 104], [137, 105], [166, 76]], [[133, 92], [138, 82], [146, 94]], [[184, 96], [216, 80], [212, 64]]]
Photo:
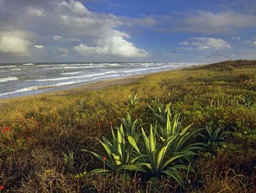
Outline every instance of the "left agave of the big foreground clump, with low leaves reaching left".
[[[106, 151], [106, 154], [108, 155], [108, 158], [106, 158], [106, 160], [104, 160], [104, 156], [94, 153], [92, 151], [83, 151], [92, 153], [94, 157], [96, 157], [100, 161], [104, 161], [104, 164], [106, 163], [111, 171], [116, 171], [117, 169], [119, 169], [120, 166], [123, 166], [125, 164], [132, 164], [134, 162], [134, 159], [132, 158], [133, 147], [131, 146], [131, 144], [125, 143], [124, 128], [122, 125], [120, 126], [120, 128], [117, 129], [116, 135], [113, 131], [113, 128], [111, 128], [111, 131], [112, 142], [104, 136], [102, 137], [103, 141], [99, 140], [100, 144], [102, 144], [104, 150]], [[89, 176], [90, 174], [100, 173], [104, 171], [109, 170], [95, 169], [90, 173], [86, 173], [84, 176]]]

